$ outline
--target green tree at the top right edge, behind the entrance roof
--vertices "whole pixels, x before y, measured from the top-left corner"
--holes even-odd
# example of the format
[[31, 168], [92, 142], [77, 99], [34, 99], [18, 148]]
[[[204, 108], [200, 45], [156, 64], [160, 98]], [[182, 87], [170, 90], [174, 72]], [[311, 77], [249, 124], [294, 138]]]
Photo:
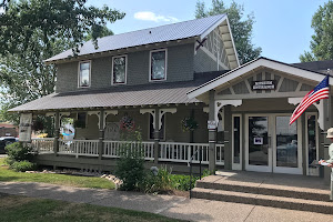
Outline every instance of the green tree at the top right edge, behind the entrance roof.
[[310, 52], [300, 56], [301, 62], [333, 59], [333, 1], [320, 7], [312, 17], [311, 28], [314, 34], [310, 42]]

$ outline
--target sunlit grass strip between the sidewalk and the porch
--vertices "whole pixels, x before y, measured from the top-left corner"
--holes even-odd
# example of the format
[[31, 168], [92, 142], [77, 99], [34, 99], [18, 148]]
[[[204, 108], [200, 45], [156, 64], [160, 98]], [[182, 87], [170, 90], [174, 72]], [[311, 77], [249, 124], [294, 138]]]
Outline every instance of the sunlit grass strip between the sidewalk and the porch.
[[[0, 182], [43, 182], [78, 188], [114, 189], [113, 182], [103, 178], [75, 176], [53, 173], [16, 172], [4, 165], [4, 158], [0, 158]], [[1, 214], [0, 214], [1, 215]]]

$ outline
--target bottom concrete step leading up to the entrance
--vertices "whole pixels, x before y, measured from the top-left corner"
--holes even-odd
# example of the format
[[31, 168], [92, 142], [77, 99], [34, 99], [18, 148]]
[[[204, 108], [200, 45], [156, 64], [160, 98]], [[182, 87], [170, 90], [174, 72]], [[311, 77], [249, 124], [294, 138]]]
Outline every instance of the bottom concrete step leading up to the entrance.
[[313, 201], [203, 188], [194, 188], [192, 190], [192, 196], [198, 199], [333, 214], [333, 202], [326, 201]]

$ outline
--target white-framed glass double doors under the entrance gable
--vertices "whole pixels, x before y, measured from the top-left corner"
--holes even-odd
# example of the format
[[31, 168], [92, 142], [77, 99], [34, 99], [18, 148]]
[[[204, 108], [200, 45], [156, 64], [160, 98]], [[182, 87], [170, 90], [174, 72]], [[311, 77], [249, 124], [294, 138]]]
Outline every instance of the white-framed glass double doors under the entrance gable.
[[302, 174], [301, 122], [290, 114], [245, 115], [245, 170]]

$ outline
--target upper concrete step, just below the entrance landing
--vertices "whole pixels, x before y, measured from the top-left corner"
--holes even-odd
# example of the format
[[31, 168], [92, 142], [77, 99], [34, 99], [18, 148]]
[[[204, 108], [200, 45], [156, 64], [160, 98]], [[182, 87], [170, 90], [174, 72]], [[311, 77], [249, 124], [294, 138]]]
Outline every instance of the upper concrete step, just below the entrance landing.
[[286, 186], [276, 184], [264, 184], [255, 182], [242, 182], [231, 180], [212, 180], [204, 178], [196, 181], [196, 188], [234, 191], [261, 195], [275, 195], [293, 199], [305, 199], [313, 201], [330, 201], [330, 191], [300, 186]]

